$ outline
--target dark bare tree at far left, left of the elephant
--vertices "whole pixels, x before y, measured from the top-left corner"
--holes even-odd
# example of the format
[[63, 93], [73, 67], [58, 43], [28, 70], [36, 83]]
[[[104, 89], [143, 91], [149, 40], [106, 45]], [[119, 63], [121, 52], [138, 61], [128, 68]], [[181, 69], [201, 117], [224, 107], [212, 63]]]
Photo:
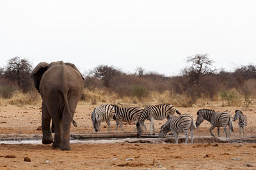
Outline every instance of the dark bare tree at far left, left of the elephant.
[[31, 87], [31, 78], [29, 77], [31, 69], [32, 66], [27, 59], [13, 57], [8, 60], [4, 77], [12, 81], [17, 81], [18, 86], [22, 90], [28, 91]]

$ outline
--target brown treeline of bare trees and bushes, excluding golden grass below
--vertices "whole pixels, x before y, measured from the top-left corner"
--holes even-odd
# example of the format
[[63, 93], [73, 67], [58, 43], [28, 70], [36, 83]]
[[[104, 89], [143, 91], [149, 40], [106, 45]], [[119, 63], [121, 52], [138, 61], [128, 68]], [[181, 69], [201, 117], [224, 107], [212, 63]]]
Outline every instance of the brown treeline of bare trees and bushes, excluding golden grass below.
[[[239, 66], [231, 72], [216, 70], [207, 54], [189, 56], [187, 62], [188, 66], [180, 71], [179, 76], [146, 72], [142, 67], [128, 74], [118, 67], [100, 65], [84, 74], [84, 87], [92, 91], [104, 89], [121, 99], [137, 97], [139, 101], [147, 99], [150, 92], [162, 94], [168, 91], [170, 97], [185, 96], [186, 106], [192, 106], [199, 98], [214, 100], [219, 96], [230, 106], [241, 102], [249, 106], [255, 98], [255, 65]], [[27, 59], [13, 57], [8, 60], [5, 67], [0, 67], [0, 97], [10, 98], [15, 90], [24, 93], [35, 90], [29, 76], [32, 69]]]

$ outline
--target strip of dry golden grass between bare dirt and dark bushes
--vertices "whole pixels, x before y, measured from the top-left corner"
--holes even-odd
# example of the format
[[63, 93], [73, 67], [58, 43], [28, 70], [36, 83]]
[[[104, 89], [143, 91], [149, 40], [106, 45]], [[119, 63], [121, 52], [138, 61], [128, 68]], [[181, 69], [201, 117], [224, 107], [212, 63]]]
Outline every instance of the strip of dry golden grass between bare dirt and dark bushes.
[[[204, 107], [207, 103], [212, 101], [212, 99], [201, 97], [193, 101], [191, 97], [187, 97], [185, 94], [175, 94], [168, 90], [164, 92], [149, 92], [147, 97], [143, 97], [138, 99], [138, 97], [134, 96], [125, 96], [119, 97], [115, 92], [109, 92], [108, 89], [93, 89], [88, 90], [84, 89], [83, 91], [83, 99], [79, 101], [79, 104], [89, 103], [92, 105], [99, 105], [104, 103], [109, 104], [124, 104], [124, 106], [140, 106], [144, 107], [148, 104], [161, 104], [161, 103], [171, 103], [176, 107], [191, 107], [191, 106], [200, 106]], [[221, 101], [221, 97], [215, 97], [214, 101]], [[244, 97], [239, 95], [237, 96], [236, 101], [232, 103], [232, 106], [245, 106], [246, 103], [244, 101]], [[253, 103], [254, 100], [252, 100]], [[0, 97], [0, 106], [4, 106], [6, 104], [12, 104], [17, 106], [23, 106], [24, 104], [29, 105], [40, 105], [42, 103], [42, 99], [38, 92], [31, 91], [26, 94], [16, 91], [13, 97], [10, 99], [4, 99]], [[227, 105], [227, 101], [222, 100], [222, 104]], [[221, 104], [220, 104], [221, 106]]]

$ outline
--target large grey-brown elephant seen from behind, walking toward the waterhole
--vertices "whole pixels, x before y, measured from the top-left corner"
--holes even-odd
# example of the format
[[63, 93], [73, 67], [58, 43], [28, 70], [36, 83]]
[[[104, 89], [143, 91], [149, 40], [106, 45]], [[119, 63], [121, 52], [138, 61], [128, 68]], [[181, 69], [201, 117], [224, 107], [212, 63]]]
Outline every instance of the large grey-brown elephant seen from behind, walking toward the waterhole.
[[[42, 143], [71, 150], [70, 125], [76, 127], [74, 113], [83, 91], [83, 76], [70, 62], [40, 62], [31, 73], [42, 97]], [[54, 139], [52, 138], [54, 125]]]

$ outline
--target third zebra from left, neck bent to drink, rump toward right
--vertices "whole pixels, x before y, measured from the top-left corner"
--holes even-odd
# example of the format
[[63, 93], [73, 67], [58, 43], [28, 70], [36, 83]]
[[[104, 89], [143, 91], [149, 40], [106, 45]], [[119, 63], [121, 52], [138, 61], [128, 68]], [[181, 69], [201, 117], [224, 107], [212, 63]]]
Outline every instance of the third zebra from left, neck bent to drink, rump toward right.
[[172, 104], [158, 104], [158, 105], [149, 105], [147, 106], [140, 115], [140, 118], [136, 124], [137, 126], [137, 136], [140, 137], [143, 132], [143, 125], [145, 120], [150, 120], [150, 134], [153, 129], [153, 134], [155, 134], [154, 128], [154, 119], [163, 120], [167, 118], [167, 120], [177, 112], [179, 115], [179, 111], [172, 106]]

